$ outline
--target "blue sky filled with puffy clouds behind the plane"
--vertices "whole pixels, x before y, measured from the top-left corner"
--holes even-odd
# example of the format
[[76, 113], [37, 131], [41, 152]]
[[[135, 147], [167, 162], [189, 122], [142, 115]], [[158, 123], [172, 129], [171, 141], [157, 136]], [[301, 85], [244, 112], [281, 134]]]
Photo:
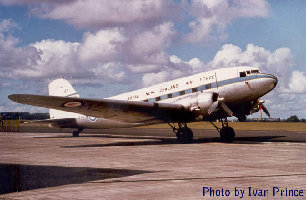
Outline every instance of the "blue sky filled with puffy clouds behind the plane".
[[48, 112], [7, 97], [61, 77], [104, 98], [246, 65], [279, 80], [271, 117], [306, 118], [305, 18], [304, 0], [0, 0], [0, 112]]

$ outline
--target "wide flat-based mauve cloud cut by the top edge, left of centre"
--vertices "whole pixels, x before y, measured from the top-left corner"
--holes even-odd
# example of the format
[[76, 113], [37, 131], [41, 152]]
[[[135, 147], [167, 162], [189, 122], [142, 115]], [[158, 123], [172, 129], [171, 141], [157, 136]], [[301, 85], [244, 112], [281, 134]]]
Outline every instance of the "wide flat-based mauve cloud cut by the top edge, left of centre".
[[162, 23], [177, 16], [180, 3], [171, 0], [76, 0], [32, 7], [32, 13], [50, 19], [64, 20], [80, 28], [127, 27]]

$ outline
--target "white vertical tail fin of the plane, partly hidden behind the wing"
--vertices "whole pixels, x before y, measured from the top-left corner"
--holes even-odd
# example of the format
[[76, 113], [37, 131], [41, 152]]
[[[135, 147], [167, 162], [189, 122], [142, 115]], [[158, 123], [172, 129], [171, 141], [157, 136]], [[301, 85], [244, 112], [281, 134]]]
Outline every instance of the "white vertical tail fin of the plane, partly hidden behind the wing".
[[[49, 84], [49, 95], [50, 96], [61, 96], [61, 97], [80, 97], [75, 91], [72, 85], [64, 78], [59, 78], [52, 81]], [[61, 110], [49, 109], [50, 118], [77, 118], [78, 113], [65, 112]]]

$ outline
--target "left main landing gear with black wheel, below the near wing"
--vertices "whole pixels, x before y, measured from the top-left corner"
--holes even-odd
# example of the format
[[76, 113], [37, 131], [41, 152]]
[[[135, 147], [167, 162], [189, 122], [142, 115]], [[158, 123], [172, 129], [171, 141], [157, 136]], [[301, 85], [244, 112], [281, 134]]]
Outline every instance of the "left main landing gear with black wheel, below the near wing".
[[187, 127], [187, 123], [179, 123], [179, 128], [175, 128], [175, 125], [173, 123], [173, 126], [168, 123], [169, 126], [172, 127], [173, 132], [176, 134], [177, 142], [179, 143], [190, 143], [193, 139], [193, 132], [190, 128]]

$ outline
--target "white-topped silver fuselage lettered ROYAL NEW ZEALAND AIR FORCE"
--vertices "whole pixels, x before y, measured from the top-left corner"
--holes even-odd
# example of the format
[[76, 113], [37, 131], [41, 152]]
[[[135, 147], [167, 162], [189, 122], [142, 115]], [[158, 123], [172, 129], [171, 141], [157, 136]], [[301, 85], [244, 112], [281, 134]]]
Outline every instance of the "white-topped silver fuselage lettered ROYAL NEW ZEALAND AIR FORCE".
[[[177, 99], [187, 97], [196, 92], [216, 92], [219, 93], [220, 97], [225, 98], [226, 103], [239, 104], [264, 96], [277, 84], [277, 78], [273, 75], [261, 73], [247, 74], [247, 71], [254, 70], [258, 71], [259, 69], [248, 66], [216, 69], [106, 99], [173, 103]], [[240, 77], [240, 72], [246, 72], [246, 76]], [[205, 87], [205, 85], [207, 86]], [[198, 89], [198, 91], [195, 91], [195, 89]], [[182, 91], [187, 94], [182, 94]], [[172, 97], [170, 94], [172, 94]], [[77, 115], [78, 126], [84, 128], [123, 128], [147, 125], [146, 123], [124, 123], [101, 118], [93, 120], [93, 117]]]

